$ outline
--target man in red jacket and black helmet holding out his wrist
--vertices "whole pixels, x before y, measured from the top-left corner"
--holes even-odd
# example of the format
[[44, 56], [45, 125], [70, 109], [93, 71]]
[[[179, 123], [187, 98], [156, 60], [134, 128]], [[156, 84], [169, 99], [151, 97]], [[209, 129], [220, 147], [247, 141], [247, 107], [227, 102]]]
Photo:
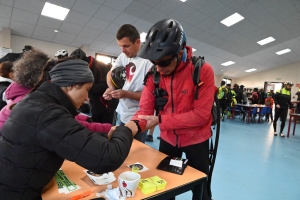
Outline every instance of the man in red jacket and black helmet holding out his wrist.
[[[159, 125], [159, 150], [171, 157], [181, 157], [185, 152], [190, 166], [208, 174], [211, 105], [216, 90], [212, 67], [207, 62], [202, 65], [198, 96], [194, 99], [197, 87], [192, 78], [192, 47], [186, 46], [183, 28], [173, 19], [151, 27], [139, 56], [155, 65], [160, 76], [159, 89], [165, 92], [166, 101], [158, 116], [153, 116], [155, 104], [162, 106], [162, 101], [153, 95], [156, 87], [150, 74], [145, 80], [140, 109], [132, 120], [136, 120], [142, 131]], [[200, 190], [195, 188], [193, 192]], [[211, 199], [209, 193], [205, 184], [202, 199]]]

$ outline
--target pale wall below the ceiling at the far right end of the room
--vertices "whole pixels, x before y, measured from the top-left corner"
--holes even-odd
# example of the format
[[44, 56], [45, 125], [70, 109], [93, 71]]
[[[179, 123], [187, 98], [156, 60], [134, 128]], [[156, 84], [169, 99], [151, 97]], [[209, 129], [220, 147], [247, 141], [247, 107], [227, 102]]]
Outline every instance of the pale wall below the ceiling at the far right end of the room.
[[[234, 83], [243, 84], [246, 88], [259, 86], [264, 87], [264, 82], [285, 82], [292, 81], [294, 84], [300, 83], [300, 62], [273, 68], [260, 73], [244, 76], [234, 79]], [[292, 95], [298, 91], [298, 88], [292, 87]]]

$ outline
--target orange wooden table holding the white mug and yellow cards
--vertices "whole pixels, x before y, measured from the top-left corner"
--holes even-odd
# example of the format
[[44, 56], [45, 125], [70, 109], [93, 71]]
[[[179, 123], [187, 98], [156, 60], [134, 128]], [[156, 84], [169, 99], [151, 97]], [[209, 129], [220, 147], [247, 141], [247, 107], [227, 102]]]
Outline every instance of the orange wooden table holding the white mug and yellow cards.
[[[122, 164], [122, 166], [114, 172], [114, 175], [116, 179], [118, 180], [118, 176], [120, 173], [124, 171], [128, 171], [129, 168], [127, 165], [133, 164], [135, 162], [140, 162], [143, 165], [145, 165], [147, 168], [149, 168], [148, 171], [140, 172], [141, 178], [149, 178], [151, 176], [159, 176], [162, 179], [167, 181], [167, 186], [165, 189], [156, 191], [151, 194], [143, 194], [141, 190], [138, 188], [136, 191], [136, 194], [133, 198], [129, 198], [132, 200], [137, 199], [151, 199], [151, 200], [165, 200], [168, 198], [171, 198], [173, 196], [179, 195], [181, 193], [184, 193], [186, 191], [189, 191], [193, 189], [195, 186], [203, 186], [205, 181], [207, 180], [206, 174], [188, 166], [183, 175], [177, 175], [161, 170], [157, 170], [156, 166], [159, 164], [159, 162], [165, 158], [166, 155], [164, 153], [161, 153], [152, 147], [149, 147], [137, 140], [133, 141], [130, 153], [125, 160], [125, 162]], [[71, 198], [75, 195], [81, 194], [85, 191], [91, 190], [93, 193], [83, 199], [92, 199], [96, 198], [95, 193], [104, 191], [107, 186], [98, 186], [95, 185], [85, 174], [83, 171], [84, 168], [77, 165], [76, 163], [65, 161], [62, 165], [62, 170], [66, 174], [66, 176], [74, 183], [79, 185], [81, 189], [71, 192], [69, 194], [59, 194], [58, 188], [55, 179], [52, 179], [52, 181], [48, 184], [48, 186], [44, 189], [42, 198], [43, 200], [66, 200], [68, 198]], [[113, 185], [113, 188], [116, 188], [118, 186], [118, 182], [114, 181], [111, 183]], [[201, 199], [202, 191], [197, 191], [194, 193], [195, 199]]]

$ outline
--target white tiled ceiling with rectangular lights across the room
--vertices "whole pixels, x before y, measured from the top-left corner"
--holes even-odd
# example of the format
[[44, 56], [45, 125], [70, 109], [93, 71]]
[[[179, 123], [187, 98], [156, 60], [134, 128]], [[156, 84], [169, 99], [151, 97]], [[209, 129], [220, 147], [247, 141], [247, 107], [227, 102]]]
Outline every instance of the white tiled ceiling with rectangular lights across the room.
[[[45, 0], [0, 0], [0, 27], [13, 35], [81, 47], [117, 56], [115, 34], [124, 23], [147, 32], [159, 20], [178, 20], [187, 34], [187, 44], [205, 57], [216, 75], [228, 78], [300, 61], [300, 0], [48, 0], [70, 9], [59, 21], [41, 16]], [[224, 18], [238, 12], [241, 22], [226, 27]], [[54, 29], [60, 30], [55, 33]], [[272, 36], [264, 46], [257, 41]], [[289, 48], [290, 53], [275, 52]], [[234, 61], [223, 67], [221, 63]], [[224, 71], [221, 71], [224, 70]]]

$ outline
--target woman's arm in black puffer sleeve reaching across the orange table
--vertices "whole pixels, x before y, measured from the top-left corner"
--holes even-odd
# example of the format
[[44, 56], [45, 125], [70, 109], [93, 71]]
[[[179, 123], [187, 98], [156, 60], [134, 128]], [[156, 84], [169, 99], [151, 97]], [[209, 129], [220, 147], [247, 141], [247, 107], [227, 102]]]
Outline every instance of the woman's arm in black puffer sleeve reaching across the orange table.
[[84, 128], [57, 106], [45, 110], [37, 123], [37, 139], [45, 149], [98, 174], [122, 165], [138, 130], [134, 124], [118, 126], [108, 139]]

